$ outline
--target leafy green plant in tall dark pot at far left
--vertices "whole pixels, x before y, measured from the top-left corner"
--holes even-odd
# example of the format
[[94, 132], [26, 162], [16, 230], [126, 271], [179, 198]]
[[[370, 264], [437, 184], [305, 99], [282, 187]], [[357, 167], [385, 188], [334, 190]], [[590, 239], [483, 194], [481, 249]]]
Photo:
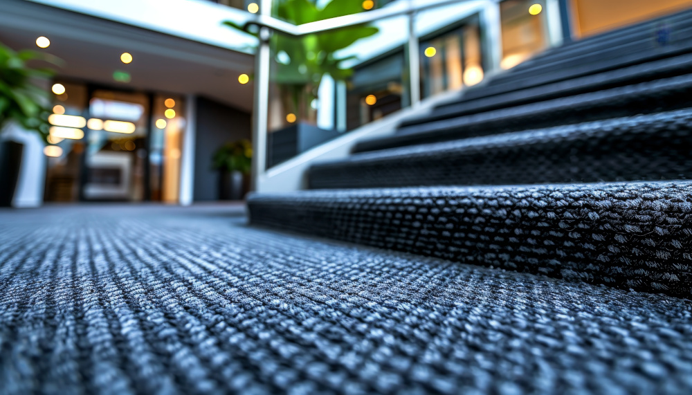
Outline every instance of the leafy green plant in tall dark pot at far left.
[[44, 142], [48, 138], [46, 91], [35, 85], [35, 79], [51, 77], [52, 71], [30, 68], [30, 59], [48, 59], [30, 50], [19, 52], [0, 43], [0, 207], [12, 205], [24, 145], [3, 138], [10, 123], [37, 132]]

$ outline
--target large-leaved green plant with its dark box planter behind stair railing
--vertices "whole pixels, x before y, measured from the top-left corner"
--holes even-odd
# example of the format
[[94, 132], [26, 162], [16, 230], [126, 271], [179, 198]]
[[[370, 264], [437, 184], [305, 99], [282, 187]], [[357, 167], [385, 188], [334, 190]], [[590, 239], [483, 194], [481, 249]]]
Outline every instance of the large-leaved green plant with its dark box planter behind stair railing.
[[[331, 0], [319, 7], [315, 0], [277, 0], [273, 4], [273, 16], [294, 25], [365, 11], [363, 2], [356, 0]], [[242, 26], [233, 21], [225, 24], [242, 30]], [[338, 51], [378, 32], [374, 26], [351, 26], [305, 37], [271, 36], [269, 45], [275, 59], [271, 81], [277, 86], [283, 116], [291, 125], [269, 134], [268, 167], [338, 136], [336, 130], [316, 126], [317, 111], [312, 105], [313, 100], [318, 99], [325, 75], [337, 82], [343, 82], [352, 75], [353, 69], [343, 67], [342, 62], [354, 56], [339, 57]], [[292, 120], [289, 120], [289, 114]]]

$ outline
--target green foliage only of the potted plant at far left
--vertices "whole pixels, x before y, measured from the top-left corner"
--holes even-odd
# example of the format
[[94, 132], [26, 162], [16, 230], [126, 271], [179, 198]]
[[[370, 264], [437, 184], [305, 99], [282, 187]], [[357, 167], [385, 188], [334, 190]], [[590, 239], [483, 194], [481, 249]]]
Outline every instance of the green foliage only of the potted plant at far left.
[[42, 103], [48, 102], [48, 93], [35, 81], [50, 78], [53, 71], [28, 67], [26, 62], [32, 59], [57, 61], [32, 50], [15, 51], [0, 43], [0, 131], [10, 122], [17, 122], [24, 129], [37, 132], [46, 142], [50, 110]]

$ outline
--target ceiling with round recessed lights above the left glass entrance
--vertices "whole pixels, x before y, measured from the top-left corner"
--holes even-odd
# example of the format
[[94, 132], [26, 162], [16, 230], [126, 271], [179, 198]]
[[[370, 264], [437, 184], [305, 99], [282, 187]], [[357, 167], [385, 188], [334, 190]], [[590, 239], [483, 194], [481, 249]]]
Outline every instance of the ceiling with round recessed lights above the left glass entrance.
[[[238, 75], [252, 73], [253, 55], [42, 4], [2, 1], [0, 42], [60, 57], [65, 62], [57, 69], [60, 77], [143, 91], [193, 93], [252, 110], [253, 84], [239, 84]], [[48, 37], [51, 46], [38, 48], [39, 36]], [[130, 64], [120, 62], [123, 52], [131, 53]], [[131, 81], [114, 81], [114, 71], [129, 73]]]

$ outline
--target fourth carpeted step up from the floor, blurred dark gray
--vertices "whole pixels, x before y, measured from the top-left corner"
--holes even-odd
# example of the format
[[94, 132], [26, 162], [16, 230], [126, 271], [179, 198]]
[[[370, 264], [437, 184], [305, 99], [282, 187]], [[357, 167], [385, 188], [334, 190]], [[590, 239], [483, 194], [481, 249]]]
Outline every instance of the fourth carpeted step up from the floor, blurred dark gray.
[[692, 72], [692, 54], [662, 59], [656, 62], [638, 64], [605, 73], [576, 77], [571, 80], [556, 82], [529, 89], [509, 91], [501, 95], [478, 98], [462, 102], [444, 104], [431, 113], [419, 118], [411, 118], [401, 123], [400, 127], [420, 125], [435, 120], [466, 116], [482, 111], [491, 111], [503, 107], [552, 100], [563, 96], [579, 95], [619, 86], [639, 84], [651, 80], [675, 77]]

